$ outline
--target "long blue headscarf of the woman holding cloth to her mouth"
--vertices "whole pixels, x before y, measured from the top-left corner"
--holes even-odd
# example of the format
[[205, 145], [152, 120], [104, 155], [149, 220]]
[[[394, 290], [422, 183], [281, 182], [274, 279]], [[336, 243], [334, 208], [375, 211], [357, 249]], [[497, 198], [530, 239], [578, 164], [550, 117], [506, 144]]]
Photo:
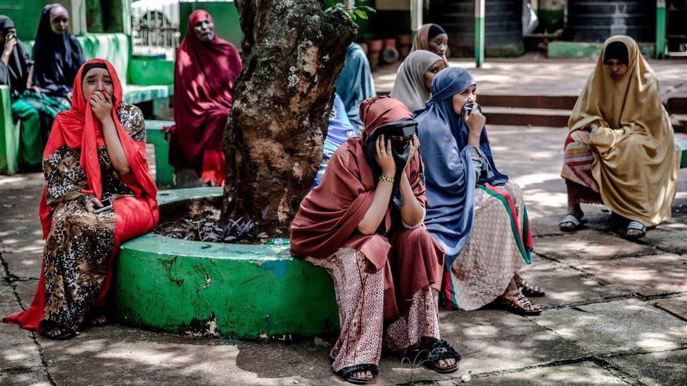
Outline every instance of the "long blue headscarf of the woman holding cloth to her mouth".
[[[467, 147], [467, 126], [463, 115], [453, 111], [453, 96], [472, 84], [472, 75], [462, 68], [441, 70], [431, 83], [431, 99], [415, 117], [427, 184], [424, 224], [446, 252], [446, 269], [450, 269], [469, 240], [475, 185], [503, 185], [508, 181], [508, 176], [498, 172], [494, 165], [486, 129], [479, 139], [485, 157], [477, 178]], [[469, 108], [479, 106], [466, 105], [463, 112]]]

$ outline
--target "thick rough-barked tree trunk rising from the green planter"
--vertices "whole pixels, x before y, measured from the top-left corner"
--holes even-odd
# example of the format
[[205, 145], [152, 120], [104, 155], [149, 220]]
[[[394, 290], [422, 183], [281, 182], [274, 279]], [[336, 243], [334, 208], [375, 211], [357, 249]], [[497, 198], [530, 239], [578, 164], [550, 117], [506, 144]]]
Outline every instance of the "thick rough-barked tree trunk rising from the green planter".
[[289, 224], [322, 160], [334, 82], [357, 31], [317, 0], [236, 1], [244, 70], [225, 131], [222, 219], [260, 219], [270, 237]]

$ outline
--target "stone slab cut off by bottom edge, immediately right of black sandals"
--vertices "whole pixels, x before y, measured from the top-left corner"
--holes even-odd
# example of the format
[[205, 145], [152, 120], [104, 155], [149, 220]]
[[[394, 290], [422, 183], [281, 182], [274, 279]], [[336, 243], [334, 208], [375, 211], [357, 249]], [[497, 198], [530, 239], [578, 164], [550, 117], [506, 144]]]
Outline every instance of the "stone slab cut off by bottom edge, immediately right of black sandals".
[[[456, 381], [459, 381], [460, 378]], [[465, 385], [518, 385], [518, 386], [574, 386], [574, 385], [627, 385], [605, 368], [591, 362], [532, 368], [527, 371], [475, 378]]]

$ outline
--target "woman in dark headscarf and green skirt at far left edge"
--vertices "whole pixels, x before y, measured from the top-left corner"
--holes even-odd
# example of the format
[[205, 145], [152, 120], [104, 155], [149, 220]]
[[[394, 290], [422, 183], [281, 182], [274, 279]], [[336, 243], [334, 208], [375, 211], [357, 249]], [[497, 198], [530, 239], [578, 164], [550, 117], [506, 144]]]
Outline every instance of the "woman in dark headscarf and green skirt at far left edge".
[[32, 92], [33, 61], [6, 15], [0, 15], [0, 44], [0, 84], [10, 87], [12, 117], [19, 123], [19, 167], [23, 171], [39, 169], [53, 119], [66, 106]]

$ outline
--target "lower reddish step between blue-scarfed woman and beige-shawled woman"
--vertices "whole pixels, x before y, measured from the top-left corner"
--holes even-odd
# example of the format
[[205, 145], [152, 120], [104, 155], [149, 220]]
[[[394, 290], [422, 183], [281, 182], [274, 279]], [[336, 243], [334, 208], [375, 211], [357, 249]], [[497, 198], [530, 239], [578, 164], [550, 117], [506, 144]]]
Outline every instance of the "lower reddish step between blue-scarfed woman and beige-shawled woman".
[[570, 110], [546, 108], [506, 108], [485, 106], [487, 124], [510, 124], [515, 126], [566, 127]]

